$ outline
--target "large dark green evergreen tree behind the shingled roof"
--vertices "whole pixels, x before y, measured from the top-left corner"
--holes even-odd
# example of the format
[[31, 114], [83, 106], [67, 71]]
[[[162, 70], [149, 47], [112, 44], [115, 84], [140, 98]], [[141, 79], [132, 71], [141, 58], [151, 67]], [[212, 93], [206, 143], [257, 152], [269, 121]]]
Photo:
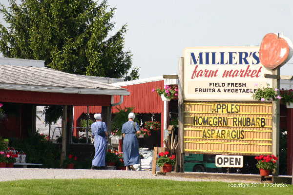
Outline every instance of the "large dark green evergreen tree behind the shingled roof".
[[[7, 58], [41, 59], [67, 73], [137, 79], [130, 51], [124, 51], [126, 25], [110, 35], [115, 8], [106, 0], [9, 0], [0, 3], [8, 24], [0, 24], [0, 52]], [[128, 76], [127, 76], [128, 75]]]

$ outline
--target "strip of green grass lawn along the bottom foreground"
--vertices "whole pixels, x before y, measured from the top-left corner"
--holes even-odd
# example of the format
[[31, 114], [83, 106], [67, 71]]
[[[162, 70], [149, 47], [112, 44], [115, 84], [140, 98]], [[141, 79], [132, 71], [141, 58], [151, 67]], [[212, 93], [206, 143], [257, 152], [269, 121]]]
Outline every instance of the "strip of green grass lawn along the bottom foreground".
[[[238, 184], [240, 186], [230, 187]], [[229, 185], [229, 186], [228, 186]], [[258, 185], [258, 187], [257, 187]], [[270, 185], [270, 184], [267, 184]], [[33, 179], [0, 182], [0, 195], [293, 195], [293, 186], [162, 179]]]

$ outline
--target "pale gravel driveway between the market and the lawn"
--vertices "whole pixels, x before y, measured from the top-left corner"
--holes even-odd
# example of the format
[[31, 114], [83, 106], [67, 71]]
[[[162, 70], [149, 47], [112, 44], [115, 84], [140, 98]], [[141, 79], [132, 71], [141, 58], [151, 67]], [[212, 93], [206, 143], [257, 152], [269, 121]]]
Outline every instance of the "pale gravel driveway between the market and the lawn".
[[[186, 178], [178, 176], [156, 176], [151, 171], [116, 171], [88, 169], [29, 169], [29, 168], [0, 168], [0, 181], [18, 179], [105, 179], [105, 178], [134, 178], [134, 179], [169, 179], [177, 181], [219, 181], [218, 179]], [[225, 182], [225, 180], [221, 180]], [[231, 182], [227, 180], [226, 182]], [[236, 181], [233, 182], [243, 182]], [[247, 181], [246, 181], [247, 182]]]

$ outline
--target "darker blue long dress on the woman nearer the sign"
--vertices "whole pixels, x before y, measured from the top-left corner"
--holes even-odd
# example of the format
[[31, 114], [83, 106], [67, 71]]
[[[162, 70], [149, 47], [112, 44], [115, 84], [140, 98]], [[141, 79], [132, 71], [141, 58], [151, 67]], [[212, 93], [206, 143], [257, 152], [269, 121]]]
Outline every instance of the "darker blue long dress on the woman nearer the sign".
[[[135, 124], [136, 131], [139, 131], [138, 123]], [[122, 126], [122, 133], [125, 134], [123, 140], [124, 165], [139, 164], [138, 142], [135, 136], [133, 121], [127, 121]]]

